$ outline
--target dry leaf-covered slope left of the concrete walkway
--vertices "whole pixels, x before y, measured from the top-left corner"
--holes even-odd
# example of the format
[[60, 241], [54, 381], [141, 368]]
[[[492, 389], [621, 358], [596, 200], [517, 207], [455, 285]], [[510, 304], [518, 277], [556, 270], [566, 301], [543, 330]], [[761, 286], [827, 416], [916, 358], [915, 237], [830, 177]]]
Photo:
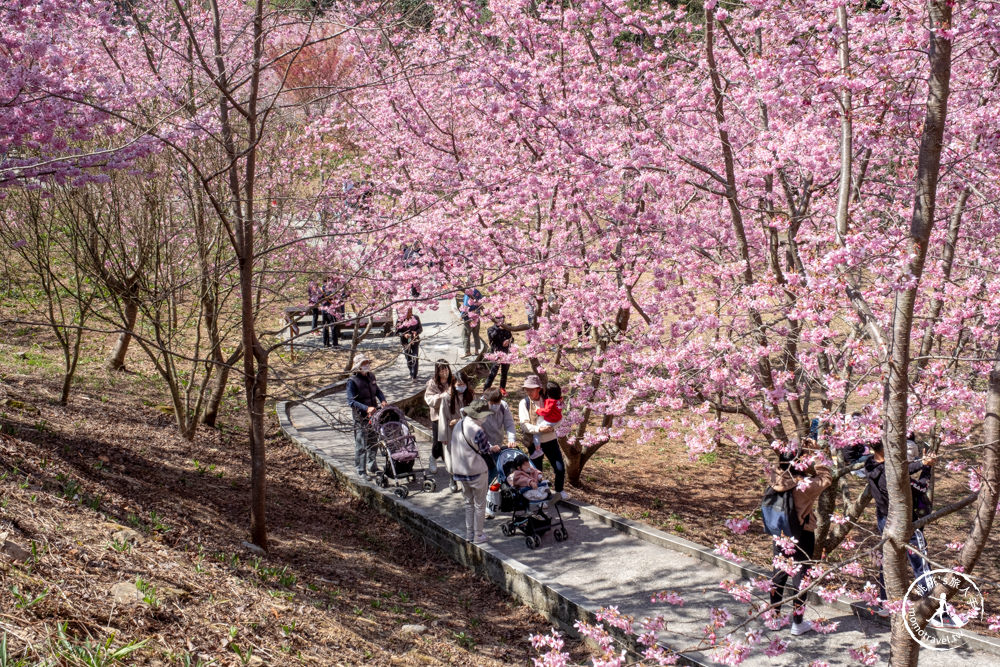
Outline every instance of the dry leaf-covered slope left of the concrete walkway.
[[60, 407], [40, 338], [0, 347], [9, 656], [90, 664], [144, 642], [124, 664], [529, 662], [543, 618], [338, 488], [273, 419], [270, 553], [254, 554], [237, 415], [187, 442], [155, 377], [104, 373], [100, 349]]

